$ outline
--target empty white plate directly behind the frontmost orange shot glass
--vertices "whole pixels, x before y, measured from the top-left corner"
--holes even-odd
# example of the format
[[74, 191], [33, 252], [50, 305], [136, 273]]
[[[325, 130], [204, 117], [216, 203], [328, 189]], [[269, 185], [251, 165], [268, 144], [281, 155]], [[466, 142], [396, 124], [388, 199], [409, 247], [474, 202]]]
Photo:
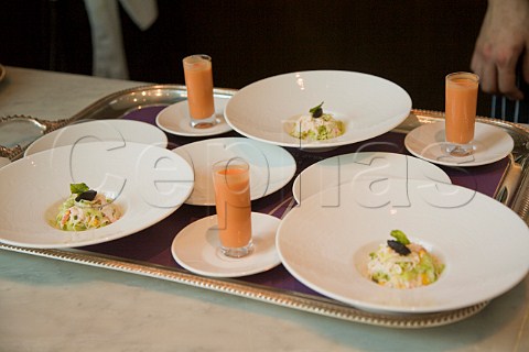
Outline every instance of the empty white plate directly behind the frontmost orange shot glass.
[[192, 165], [195, 187], [185, 201], [194, 206], [214, 206], [212, 166], [218, 161], [242, 157], [250, 164], [250, 197], [268, 196], [287, 185], [295, 173], [295, 161], [280, 146], [245, 138], [204, 140], [173, 150]]

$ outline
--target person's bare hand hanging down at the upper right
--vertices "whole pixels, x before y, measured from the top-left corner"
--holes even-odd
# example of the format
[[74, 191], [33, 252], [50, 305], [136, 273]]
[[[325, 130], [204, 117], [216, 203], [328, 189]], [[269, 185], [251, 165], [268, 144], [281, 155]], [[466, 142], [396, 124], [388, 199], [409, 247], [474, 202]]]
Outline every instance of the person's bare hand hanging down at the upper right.
[[523, 99], [516, 68], [520, 61], [522, 78], [529, 82], [528, 51], [529, 0], [489, 0], [471, 63], [483, 91]]

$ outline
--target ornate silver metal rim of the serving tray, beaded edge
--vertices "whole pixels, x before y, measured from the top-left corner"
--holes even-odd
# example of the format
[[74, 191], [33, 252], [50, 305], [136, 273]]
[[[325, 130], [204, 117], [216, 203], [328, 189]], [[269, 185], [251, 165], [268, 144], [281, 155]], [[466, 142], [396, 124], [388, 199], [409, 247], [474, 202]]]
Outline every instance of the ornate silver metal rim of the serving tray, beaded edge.
[[[215, 95], [217, 96], [229, 97], [234, 94], [235, 90], [233, 89], [215, 89]], [[8, 123], [20, 125], [25, 124], [25, 127], [34, 129], [34, 131], [39, 131], [35, 133], [36, 135], [42, 135], [61, 127], [77, 123], [83, 120], [102, 118], [117, 119], [137, 109], [152, 106], [168, 106], [184, 99], [185, 87], [183, 86], [154, 85], [131, 88], [109, 95], [79, 111], [72, 118], [65, 120], [44, 121], [31, 117], [4, 118], [0, 121], [0, 135], [2, 124], [6, 127]], [[444, 114], [442, 112], [414, 109], [411, 111], [407, 120], [397, 127], [393, 132], [408, 133], [417, 127], [441, 121], [443, 119]], [[522, 125], [501, 120], [478, 118], [478, 121], [505, 129], [515, 141], [514, 151], [509, 155], [509, 161], [496, 189], [495, 198], [510, 207], [526, 221], [526, 223], [529, 223], [529, 130]], [[26, 142], [28, 141], [25, 141], [25, 143]], [[26, 143], [25, 146], [22, 144], [1, 146], [0, 156], [7, 156], [10, 160], [17, 160], [23, 155], [23, 151], [28, 145], [29, 143]], [[309, 311], [322, 316], [380, 327], [412, 329], [444, 326], [472, 317], [482, 311], [488, 305], [488, 301], [485, 301], [457, 310], [435, 314], [386, 315], [359, 310], [328, 298], [250, 284], [238, 279], [203, 277], [184, 270], [165, 267], [145, 262], [130, 261], [122, 257], [112, 257], [75, 249], [39, 250], [12, 246], [3, 243], [0, 243], [0, 249], [161, 278], [194, 287], [201, 287], [259, 301], [266, 301], [282, 307]]]

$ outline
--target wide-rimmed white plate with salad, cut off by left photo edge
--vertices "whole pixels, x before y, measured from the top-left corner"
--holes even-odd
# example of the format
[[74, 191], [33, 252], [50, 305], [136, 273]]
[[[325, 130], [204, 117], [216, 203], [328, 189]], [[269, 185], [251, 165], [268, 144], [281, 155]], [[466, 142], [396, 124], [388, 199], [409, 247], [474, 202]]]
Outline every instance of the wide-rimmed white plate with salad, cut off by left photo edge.
[[[69, 196], [71, 183], [86, 183], [115, 199], [122, 218], [95, 230], [54, 228], [50, 221]], [[0, 168], [0, 241], [46, 249], [119, 239], [171, 215], [192, 189], [191, 166], [166, 148], [96, 142], [47, 150]]]

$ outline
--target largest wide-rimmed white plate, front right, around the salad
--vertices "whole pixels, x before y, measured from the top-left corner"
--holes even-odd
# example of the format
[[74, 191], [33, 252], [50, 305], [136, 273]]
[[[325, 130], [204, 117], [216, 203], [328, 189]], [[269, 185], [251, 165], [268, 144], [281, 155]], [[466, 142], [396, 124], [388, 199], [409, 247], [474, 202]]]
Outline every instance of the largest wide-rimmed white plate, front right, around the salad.
[[[370, 186], [344, 188], [334, 207], [322, 207], [315, 195], [281, 221], [278, 251], [300, 282], [360, 309], [421, 314], [490, 300], [527, 275], [529, 229], [493, 198], [421, 180], [385, 193]], [[445, 270], [438, 282], [396, 289], [366, 277], [369, 253], [395, 229], [441, 258]]]

